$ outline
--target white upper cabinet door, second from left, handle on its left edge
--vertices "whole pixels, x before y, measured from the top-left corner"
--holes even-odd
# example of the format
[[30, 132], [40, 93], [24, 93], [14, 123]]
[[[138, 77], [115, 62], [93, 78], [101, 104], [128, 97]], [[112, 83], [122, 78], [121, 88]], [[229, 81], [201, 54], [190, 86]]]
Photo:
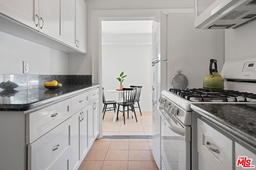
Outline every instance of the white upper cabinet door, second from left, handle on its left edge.
[[63, 0], [39, 0], [39, 31], [63, 41]]

